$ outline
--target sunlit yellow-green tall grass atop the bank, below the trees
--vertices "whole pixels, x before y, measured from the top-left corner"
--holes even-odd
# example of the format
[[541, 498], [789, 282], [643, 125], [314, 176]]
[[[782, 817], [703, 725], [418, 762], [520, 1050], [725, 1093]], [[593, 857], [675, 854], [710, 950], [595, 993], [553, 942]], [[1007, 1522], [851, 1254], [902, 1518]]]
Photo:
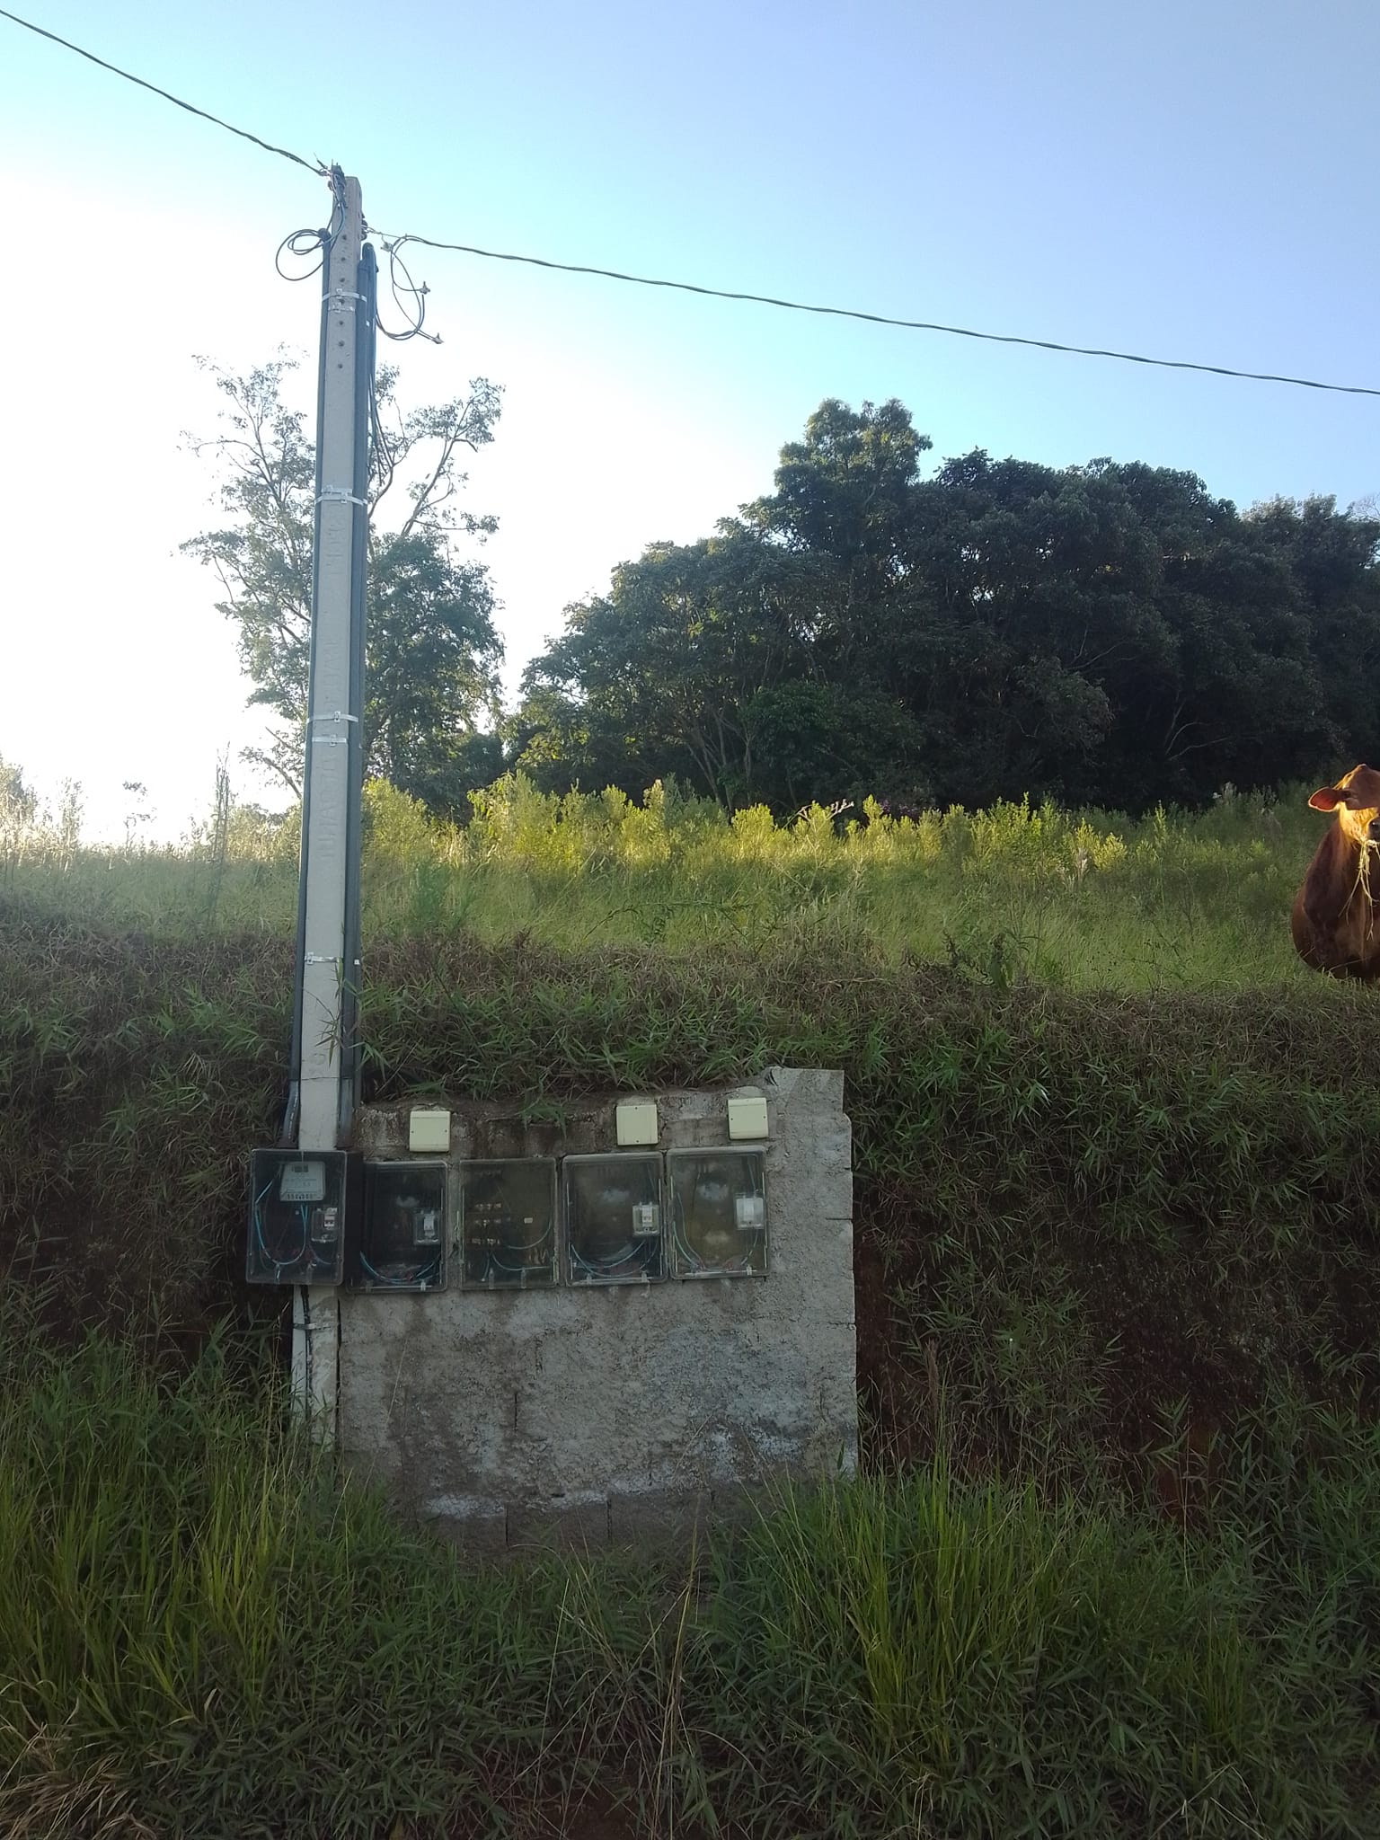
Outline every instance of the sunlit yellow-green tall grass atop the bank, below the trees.
[[[653, 786], [539, 793], [521, 776], [432, 826], [375, 784], [366, 799], [366, 940], [471, 931], [559, 949], [655, 944], [839, 951], [957, 962], [997, 981], [1073, 988], [1242, 988], [1303, 975], [1288, 907], [1321, 824], [1306, 789], [1224, 797], [1143, 821], [999, 804], [835, 821], [725, 817]], [[33, 848], [13, 892], [98, 924], [287, 937], [296, 830], [217, 821], [178, 850]]]

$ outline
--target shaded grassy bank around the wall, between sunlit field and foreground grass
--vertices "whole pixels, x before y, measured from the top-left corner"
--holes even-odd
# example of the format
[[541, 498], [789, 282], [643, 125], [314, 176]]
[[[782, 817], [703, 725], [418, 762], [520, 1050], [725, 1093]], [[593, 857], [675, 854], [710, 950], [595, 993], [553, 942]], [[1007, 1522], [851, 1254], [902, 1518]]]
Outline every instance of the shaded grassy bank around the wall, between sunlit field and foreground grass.
[[[0, 909], [0, 1248], [68, 1319], [245, 1297], [247, 1146], [285, 1080], [291, 942], [147, 940]], [[861, 1378], [924, 1455], [931, 1369], [1005, 1461], [1209, 1435], [1282, 1374], [1380, 1397], [1380, 1034], [1323, 979], [1148, 995], [776, 953], [375, 944], [368, 1091], [500, 1098], [841, 1067]], [[131, 1225], [132, 1224], [132, 1225]]]

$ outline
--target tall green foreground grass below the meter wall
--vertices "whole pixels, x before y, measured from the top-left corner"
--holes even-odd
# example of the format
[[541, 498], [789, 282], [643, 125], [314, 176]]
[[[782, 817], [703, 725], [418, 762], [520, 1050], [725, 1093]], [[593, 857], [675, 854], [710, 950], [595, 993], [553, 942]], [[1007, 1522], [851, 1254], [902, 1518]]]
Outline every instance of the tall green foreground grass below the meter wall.
[[7, 1834], [569, 1834], [591, 1798], [668, 1840], [1374, 1833], [1374, 1435], [1238, 1465], [1205, 1533], [937, 1459], [688, 1568], [477, 1570], [221, 1343], [169, 1378], [4, 1316]]

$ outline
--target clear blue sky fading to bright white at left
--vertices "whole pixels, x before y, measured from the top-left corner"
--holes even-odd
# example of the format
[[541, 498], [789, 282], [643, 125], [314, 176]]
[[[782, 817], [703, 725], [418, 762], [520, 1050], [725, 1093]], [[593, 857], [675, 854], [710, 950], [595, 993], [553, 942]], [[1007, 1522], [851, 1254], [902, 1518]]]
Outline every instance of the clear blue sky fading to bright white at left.
[[[1380, 7], [1371, 0], [20, 0], [33, 24], [361, 180], [421, 234], [1380, 388]], [[217, 585], [197, 355], [300, 353], [318, 283], [274, 270], [322, 180], [0, 18], [11, 239], [0, 443], [0, 758], [86, 835], [204, 817], [247, 710]], [[506, 684], [651, 541], [771, 489], [824, 397], [900, 397], [931, 462], [1185, 467], [1249, 506], [1380, 493], [1380, 397], [699, 300], [412, 250], [443, 344], [385, 348], [405, 403], [504, 390], [467, 506]], [[147, 797], [123, 789], [140, 782]]]

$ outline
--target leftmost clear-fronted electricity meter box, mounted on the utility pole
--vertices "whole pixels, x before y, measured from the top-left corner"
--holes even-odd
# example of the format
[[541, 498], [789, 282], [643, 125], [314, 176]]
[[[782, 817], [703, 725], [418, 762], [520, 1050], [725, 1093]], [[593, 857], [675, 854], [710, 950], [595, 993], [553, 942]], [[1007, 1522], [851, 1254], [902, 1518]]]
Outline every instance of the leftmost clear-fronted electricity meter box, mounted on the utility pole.
[[254, 1150], [248, 1163], [250, 1284], [339, 1284], [359, 1214], [350, 1150]]

